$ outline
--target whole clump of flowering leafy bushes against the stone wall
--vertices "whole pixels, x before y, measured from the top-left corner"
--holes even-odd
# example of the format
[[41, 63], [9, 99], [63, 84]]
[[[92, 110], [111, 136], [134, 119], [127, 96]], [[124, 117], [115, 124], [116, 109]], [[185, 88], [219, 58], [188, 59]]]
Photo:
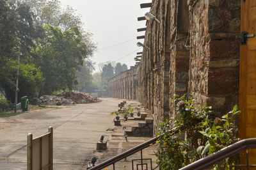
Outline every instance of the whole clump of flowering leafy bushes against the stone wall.
[[[175, 119], [157, 126], [156, 156], [161, 169], [180, 169], [239, 141], [235, 122], [239, 114], [237, 106], [221, 120], [215, 118], [211, 107], [202, 105], [197, 109], [193, 100], [186, 100], [185, 95], [175, 97], [175, 104]], [[221, 167], [228, 168], [235, 160], [237, 158], [226, 160]]]

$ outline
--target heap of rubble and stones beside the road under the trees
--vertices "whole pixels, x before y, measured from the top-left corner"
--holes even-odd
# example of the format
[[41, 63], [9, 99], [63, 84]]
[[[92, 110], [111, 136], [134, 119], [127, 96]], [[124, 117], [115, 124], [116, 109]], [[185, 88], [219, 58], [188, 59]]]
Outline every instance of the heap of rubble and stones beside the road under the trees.
[[72, 105], [90, 104], [100, 102], [99, 98], [92, 97], [89, 93], [79, 91], [65, 91], [57, 96], [44, 95], [39, 98], [40, 105]]

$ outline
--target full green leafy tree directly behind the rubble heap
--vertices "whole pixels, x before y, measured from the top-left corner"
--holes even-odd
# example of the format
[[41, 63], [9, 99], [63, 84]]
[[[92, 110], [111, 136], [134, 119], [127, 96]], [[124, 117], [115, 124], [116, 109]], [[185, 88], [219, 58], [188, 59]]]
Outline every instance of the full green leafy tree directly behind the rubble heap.
[[61, 31], [58, 27], [44, 26], [44, 38], [39, 41], [37, 65], [42, 68], [45, 86], [42, 94], [60, 89], [72, 89], [77, 84], [76, 70], [86, 58], [86, 44], [77, 27]]

